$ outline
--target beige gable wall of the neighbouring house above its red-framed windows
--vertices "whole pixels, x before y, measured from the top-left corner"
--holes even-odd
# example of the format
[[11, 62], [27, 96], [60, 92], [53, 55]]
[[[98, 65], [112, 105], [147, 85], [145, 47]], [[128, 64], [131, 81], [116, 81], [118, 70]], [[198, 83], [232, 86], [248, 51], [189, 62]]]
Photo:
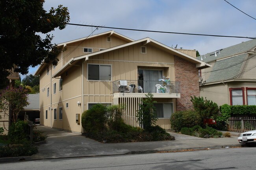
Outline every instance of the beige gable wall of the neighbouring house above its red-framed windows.
[[239, 78], [243, 79], [255, 79], [256, 78], [256, 57], [253, 57], [254, 55], [249, 55], [247, 58], [250, 58], [246, 60], [243, 69], [241, 70], [241, 75], [239, 75]]

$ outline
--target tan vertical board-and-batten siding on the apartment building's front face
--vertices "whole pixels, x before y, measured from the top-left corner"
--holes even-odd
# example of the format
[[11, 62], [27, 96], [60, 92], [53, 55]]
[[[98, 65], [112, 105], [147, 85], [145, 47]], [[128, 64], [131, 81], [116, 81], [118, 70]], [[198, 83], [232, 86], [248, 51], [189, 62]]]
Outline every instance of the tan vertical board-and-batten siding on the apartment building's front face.
[[[132, 126], [139, 126], [135, 117], [138, 110], [137, 97], [122, 97], [113, 99], [112, 81], [115, 80], [137, 80], [138, 68], [147, 69], [163, 69], [163, 74], [169, 77], [171, 81], [175, 81], [174, 75], [174, 56], [147, 45], [147, 54], [141, 54], [141, 46], [135, 44], [104, 53], [101, 55], [90, 57], [84, 63], [84, 101], [88, 102], [113, 102], [113, 104], [126, 103], [126, 115], [124, 121]], [[91, 81], [87, 80], [87, 64], [110, 64], [112, 70], [112, 81]], [[114, 101], [113, 101], [114, 100]], [[164, 99], [163, 99], [164, 100]], [[164, 102], [159, 99], [159, 101]], [[171, 102], [176, 100], [171, 99]], [[87, 110], [85, 106], [85, 110]], [[174, 104], [174, 110], [176, 106]], [[170, 129], [170, 119], [159, 119], [157, 125], [165, 129]]]

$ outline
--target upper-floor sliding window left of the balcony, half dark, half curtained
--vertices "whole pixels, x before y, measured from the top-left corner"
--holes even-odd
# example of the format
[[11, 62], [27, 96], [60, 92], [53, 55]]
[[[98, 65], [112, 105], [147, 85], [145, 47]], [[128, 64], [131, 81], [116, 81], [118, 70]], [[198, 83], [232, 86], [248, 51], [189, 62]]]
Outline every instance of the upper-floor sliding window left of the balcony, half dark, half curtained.
[[111, 80], [111, 65], [88, 64], [88, 80]]

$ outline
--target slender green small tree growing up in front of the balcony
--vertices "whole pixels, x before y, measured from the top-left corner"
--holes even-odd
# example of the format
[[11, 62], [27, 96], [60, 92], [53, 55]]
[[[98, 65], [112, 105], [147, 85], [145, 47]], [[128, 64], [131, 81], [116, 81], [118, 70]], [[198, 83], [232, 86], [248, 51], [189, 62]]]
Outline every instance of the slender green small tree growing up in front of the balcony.
[[141, 103], [139, 104], [139, 110], [137, 111], [136, 117], [137, 121], [143, 126], [143, 129], [146, 131], [151, 131], [152, 126], [156, 125], [157, 117], [156, 117], [156, 107], [154, 103], [156, 101], [153, 100], [152, 93], [148, 93], [145, 95], [147, 98], [141, 99]]

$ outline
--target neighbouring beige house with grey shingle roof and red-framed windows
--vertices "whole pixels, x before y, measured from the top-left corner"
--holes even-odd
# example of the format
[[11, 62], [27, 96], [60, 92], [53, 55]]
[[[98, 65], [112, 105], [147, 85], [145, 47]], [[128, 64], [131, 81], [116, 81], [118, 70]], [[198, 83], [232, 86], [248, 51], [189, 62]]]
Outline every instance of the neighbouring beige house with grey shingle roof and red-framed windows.
[[200, 96], [221, 106], [256, 105], [256, 40], [198, 57], [212, 65], [199, 71]]

